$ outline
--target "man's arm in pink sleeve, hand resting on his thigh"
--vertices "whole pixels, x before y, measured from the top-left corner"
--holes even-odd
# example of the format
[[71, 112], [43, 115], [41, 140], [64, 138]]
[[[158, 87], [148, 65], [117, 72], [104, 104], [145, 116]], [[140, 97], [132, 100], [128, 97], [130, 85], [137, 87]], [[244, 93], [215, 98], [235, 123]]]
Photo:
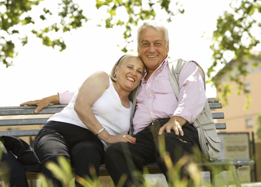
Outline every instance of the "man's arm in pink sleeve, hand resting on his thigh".
[[202, 112], [206, 95], [204, 92], [204, 81], [194, 62], [187, 63], [179, 75], [179, 105], [170, 120], [161, 127], [159, 134], [164, 131], [184, 135], [182, 126], [187, 122], [193, 123]]

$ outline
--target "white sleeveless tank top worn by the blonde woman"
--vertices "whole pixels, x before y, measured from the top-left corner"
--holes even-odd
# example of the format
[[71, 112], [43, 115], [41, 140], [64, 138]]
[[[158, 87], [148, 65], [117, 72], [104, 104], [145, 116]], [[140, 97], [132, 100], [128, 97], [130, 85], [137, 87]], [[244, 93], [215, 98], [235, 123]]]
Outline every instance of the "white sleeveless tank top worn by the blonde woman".
[[[130, 108], [125, 108], [118, 93], [115, 91], [112, 80], [109, 77], [109, 88], [98, 98], [98, 100], [91, 107], [95, 117], [99, 123], [111, 135], [122, 134], [128, 132], [130, 129], [130, 117], [132, 112], [132, 102], [130, 101]], [[80, 89], [80, 88], [79, 88]], [[74, 103], [79, 92], [73, 95], [69, 104], [60, 113], [56, 113], [48, 121], [64, 122], [73, 125], [78, 125], [83, 128], [88, 127], [82, 123], [74, 110]], [[109, 145], [103, 142], [106, 150]]]

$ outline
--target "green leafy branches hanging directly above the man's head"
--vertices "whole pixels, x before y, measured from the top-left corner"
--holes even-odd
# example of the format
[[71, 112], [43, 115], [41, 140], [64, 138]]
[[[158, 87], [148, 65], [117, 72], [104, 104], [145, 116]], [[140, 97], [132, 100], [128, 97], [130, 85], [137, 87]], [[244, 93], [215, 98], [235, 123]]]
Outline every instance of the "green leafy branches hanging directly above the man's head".
[[[184, 13], [182, 5], [178, 1], [172, 2], [175, 4], [175, 9], [170, 10], [170, 0], [96, 0], [96, 7], [100, 8], [106, 6], [107, 12], [110, 14], [105, 19], [106, 28], [113, 28], [114, 26], [124, 26], [125, 31], [123, 33], [126, 39], [126, 46], [122, 48], [123, 52], [127, 52], [127, 46], [132, 42], [131, 26], [137, 26], [140, 20], [152, 20], [155, 19], [156, 13], [155, 6], [160, 6], [167, 13], [167, 22], [171, 22], [171, 17], [181, 13]], [[121, 19], [120, 15], [117, 15], [117, 9], [124, 7], [128, 13], [128, 22]]]

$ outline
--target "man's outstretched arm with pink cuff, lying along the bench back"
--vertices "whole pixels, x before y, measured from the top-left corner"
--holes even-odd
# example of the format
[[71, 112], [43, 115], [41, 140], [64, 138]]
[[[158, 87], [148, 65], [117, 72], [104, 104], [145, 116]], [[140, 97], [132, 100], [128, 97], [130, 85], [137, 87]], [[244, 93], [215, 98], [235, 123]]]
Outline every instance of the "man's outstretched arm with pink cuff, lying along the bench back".
[[65, 91], [38, 100], [24, 102], [20, 104], [20, 106], [37, 105], [37, 108], [34, 110], [34, 112], [38, 113], [49, 104], [68, 104], [74, 93], [75, 92]]

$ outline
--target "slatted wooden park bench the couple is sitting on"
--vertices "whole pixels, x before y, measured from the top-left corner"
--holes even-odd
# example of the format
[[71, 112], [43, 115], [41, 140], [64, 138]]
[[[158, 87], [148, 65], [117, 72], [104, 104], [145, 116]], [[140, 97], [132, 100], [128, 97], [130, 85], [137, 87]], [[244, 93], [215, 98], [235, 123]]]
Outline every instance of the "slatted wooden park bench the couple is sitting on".
[[[208, 99], [208, 103], [211, 109], [220, 109], [222, 104], [219, 103], [218, 99]], [[47, 114], [55, 114], [63, 110], [66, 105], [49, 105], [47, 108], [42, 109], [38, 114], [34, 113], [36, 106], [17, 106], [17, 107], [0, 107], [0, 127], [7, 126], [30, 126], [30, 125], [44, 125], [48, 120]], [[33, 115], [33, 117], [32, 117]], [[4, 117], [3, 117], [4, 116]], [[23, 116], [23, 119], [1, 119], [8, 118], [10, 116]], [[28, 116], [25, 118], [25, 116]], [[34, 116], [37, 118], [34, 118]], [[44, 116], [44, 117], [41, 117]], [[212, 112], [214, 119], [224, 119], [224, 113]], [[216, 124], [217, 129], [226, 129], [225, 123]], [[28, 130], [4, 130], [0, 131], [1, 135], [23, 137], [23, 136], [36, 136], [39, 129], [28, 129]], [[211, 184], [215, 186], [215, 176], [222, 171], [231, 171], [234, 183], [236, 187], [241, 187], [239, 177], [236, 169], [245, 165], [254, 165], [254, 161], [250, 159], [218, 159], [215, 161], [209, 161], [206, 163], [197, 163], [200, 171], [210, 172]], [[147, 165], [148, 172], [150, 174], [162, 173], [156, 163]], [[99, 176], [108, 176], [104, 165], [100, 166]], [[38, 173], [27, 172], [28, 180], [34, 180], [38, 178]], [[0, 181], [2, 181], [0, 176]]]

